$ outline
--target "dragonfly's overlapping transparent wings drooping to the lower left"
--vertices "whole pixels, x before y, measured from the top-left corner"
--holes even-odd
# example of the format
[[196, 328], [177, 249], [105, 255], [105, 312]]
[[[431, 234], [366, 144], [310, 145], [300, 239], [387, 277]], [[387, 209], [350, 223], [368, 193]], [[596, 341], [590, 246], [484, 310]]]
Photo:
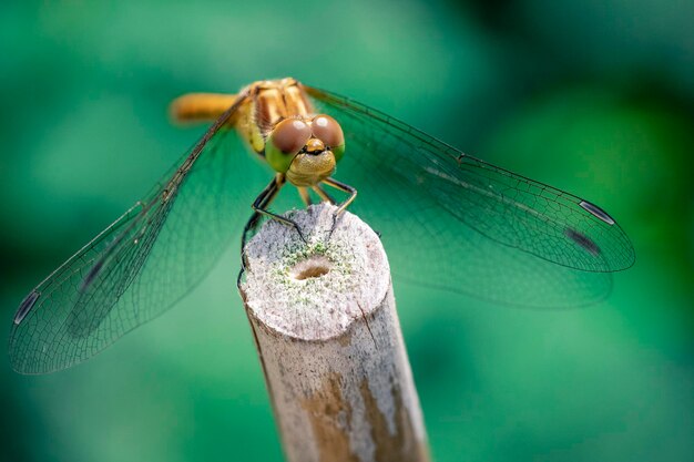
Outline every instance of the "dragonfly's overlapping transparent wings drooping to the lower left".
[[223, 123], [235, 106], [145, 199], [24, 299], [10, 335], [16, 370], [43, 373], [90, 358], [174, 305], [238, 238], [255, 197], [246, 188], [261, 191], [267, 174]]

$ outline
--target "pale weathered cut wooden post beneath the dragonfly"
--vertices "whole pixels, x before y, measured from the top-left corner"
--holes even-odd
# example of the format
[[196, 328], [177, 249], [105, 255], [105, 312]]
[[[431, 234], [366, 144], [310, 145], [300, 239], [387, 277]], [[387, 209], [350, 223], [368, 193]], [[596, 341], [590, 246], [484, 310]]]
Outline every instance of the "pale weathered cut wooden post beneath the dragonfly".
[[334, 211], [290, 213], [307, 244], [268, 220], [246, 246], [242, 296], [285, 454], [429, 461], [386, 254], [349, 213], [333, 229]]

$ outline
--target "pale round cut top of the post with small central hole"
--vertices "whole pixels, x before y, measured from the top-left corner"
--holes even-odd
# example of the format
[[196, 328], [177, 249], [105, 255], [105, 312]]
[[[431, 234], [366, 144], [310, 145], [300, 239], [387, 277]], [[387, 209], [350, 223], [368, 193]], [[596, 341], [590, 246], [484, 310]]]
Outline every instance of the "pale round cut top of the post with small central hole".
[[243, 290], [268, 328], [326, 340], [344, 335], [386, 298], [390, 268], [378, 236], [355, 215], [335, 211], [322, 204], [287, 215], [306, 243], [294, 227], [268, 220], [246, 246]]

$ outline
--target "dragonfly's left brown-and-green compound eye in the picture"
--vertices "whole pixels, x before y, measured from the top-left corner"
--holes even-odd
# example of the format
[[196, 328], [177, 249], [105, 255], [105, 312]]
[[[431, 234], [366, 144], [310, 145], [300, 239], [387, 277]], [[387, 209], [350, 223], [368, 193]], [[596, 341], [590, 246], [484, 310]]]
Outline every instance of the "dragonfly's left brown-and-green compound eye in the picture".
[[286, 172], [294, 156], [310, 138], [310, 127], [298, 119], [286, 119], [275, 125], [265, 142], [265, 158], [276, 172]]

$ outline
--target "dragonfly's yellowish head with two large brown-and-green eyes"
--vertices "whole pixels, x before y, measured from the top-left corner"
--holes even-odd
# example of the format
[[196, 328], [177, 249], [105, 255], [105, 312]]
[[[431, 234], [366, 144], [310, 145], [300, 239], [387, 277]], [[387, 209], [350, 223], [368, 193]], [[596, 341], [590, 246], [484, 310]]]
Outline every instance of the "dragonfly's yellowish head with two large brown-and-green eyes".
[[268, 164], [296, 186], [314, 186], [330, 176], [344, 153], [343, 129], [325, 114], [285, 119], [265, 141]]

